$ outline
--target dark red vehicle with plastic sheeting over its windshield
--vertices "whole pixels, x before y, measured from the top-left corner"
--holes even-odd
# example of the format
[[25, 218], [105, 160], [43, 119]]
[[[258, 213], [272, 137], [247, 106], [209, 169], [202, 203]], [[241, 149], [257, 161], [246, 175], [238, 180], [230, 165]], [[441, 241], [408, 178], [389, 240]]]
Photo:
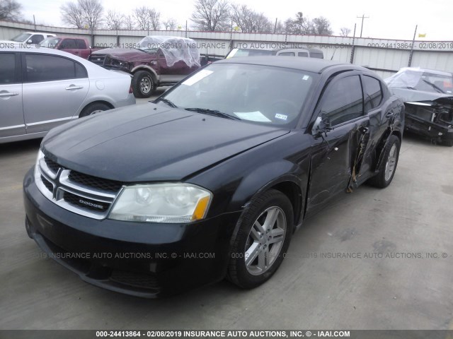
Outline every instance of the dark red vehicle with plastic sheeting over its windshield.
[[192, 39], [149, 36], [132, 46], [137, 48], [101, 49], [88, 60], [132, 74], [135, 97], [150, 97], [156, 87], [174, 85], [200, 68], [200, 52]]

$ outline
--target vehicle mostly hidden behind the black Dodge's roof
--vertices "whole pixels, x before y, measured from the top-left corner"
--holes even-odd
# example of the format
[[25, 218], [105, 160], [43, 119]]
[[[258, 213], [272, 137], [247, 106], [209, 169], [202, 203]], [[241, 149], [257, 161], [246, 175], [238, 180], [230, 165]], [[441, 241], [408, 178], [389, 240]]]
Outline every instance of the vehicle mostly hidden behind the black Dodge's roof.
[[315, 48], [282, 48], [282, 49], [251, 49], [251, 48], [234, 48], [226, 54], [225, 59], [238, 57], [258, 57], [264, 55], [277, 55], [281, 57], [307, 57], [324, 59], [321, 49]]

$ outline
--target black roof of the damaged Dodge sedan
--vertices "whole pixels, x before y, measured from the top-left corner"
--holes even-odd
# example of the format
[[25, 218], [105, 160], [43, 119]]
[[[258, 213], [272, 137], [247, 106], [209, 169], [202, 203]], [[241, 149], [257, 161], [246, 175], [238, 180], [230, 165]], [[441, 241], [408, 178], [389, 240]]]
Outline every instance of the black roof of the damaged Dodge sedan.
[[338, 61], [328, 61], [315, 58], [287, 58], [287, 57], [239, 57], [231, 59], [222, 59], [216, 61], [216, 64], [253, 64], [262, 66], [277, 66], [287, 69], [298, 69], [300, 71], [309, 71], [313, 73], [322, 73], [326, 69], [335, 67], [338, 70], [355, 69], [357, 71], [367, 71], [364, 67], [345, 64]]

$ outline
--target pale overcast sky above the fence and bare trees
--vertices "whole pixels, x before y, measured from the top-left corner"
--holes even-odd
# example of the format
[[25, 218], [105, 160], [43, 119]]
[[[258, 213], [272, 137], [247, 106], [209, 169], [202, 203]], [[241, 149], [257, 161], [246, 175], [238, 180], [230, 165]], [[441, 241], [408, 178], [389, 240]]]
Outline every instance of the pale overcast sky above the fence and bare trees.
[[[72, 0], [75, 2], [75, 0]], [[179, 25], [185, 27], [193, 12], [193, 0], [101, 0], [106, 9], [113, 9], [121, 13], [132, 13], [138, 6], [149, 6], [160, 11], [161, 18], [175, 18]], [[18, 0], [23, 5], [23, 14], [26, 19], [45, 25], [62, 26], [59, 8], [68, 1], [58, 0]], [[247, 4], [255, 11], [263, 12], [270, 20], [275, 18], [285, 21], [294, 18], [299, 11], [304, 16], [316, 18], [324, 16], [331, 22], [334, 35], [339, 35], [340, 28], [350, 28], [352, 33], [357, 24], [356, 36], [360, 35], [361, 18], [368, 16], [363, 24], [362, 37], [378, 37], [386, 39], [412, 40], [415, 25], [418, 33], [426, 34], [420, 40], [453, 40], [452, 30], [452, 0], [431, 1], [397, 1], [397, 0], [230, 0], [237, 4]]]

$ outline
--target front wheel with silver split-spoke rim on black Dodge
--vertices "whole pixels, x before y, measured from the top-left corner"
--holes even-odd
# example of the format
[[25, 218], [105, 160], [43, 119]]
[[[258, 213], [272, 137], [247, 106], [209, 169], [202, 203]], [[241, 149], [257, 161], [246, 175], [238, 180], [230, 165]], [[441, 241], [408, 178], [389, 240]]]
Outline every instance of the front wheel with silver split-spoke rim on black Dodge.
[[[264, 230], [266, 222], [271, 225]], [[228, 280], [246, 289], [269, 280], [285, 257], [293, 223], [292, 204], [285, 194], [272, 189], [254, 198], [239, 218]]]

